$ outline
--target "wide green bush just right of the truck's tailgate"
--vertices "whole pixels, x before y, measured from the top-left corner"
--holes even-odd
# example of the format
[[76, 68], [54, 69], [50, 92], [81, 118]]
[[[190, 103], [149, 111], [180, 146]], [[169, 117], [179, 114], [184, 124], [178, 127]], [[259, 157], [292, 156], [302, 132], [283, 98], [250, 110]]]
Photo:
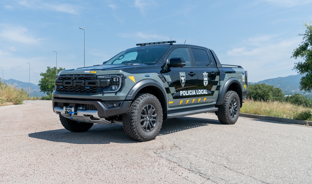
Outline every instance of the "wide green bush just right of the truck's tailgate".
[[248, 97], [263, 101], [285, 101], [284, 93], [280, 88], [266, 85], [265, 83], [248, 85]]

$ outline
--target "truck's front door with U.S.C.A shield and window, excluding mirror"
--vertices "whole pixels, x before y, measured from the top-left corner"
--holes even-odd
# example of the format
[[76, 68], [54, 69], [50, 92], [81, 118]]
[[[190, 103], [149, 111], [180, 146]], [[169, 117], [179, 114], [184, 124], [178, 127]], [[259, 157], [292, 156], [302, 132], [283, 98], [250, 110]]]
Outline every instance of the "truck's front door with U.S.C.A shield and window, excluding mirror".
[[183, 57], [186, 66], [170, 67], [167, 73], [168, 86], [168, 107], [188, 107], [197, 104], [195, 89], [197, 88], [196, 68], [190, 59], [190, 50], [187, 46], [175, 47], [166, 58], [165, 61], [170, 61], [172, 57]]

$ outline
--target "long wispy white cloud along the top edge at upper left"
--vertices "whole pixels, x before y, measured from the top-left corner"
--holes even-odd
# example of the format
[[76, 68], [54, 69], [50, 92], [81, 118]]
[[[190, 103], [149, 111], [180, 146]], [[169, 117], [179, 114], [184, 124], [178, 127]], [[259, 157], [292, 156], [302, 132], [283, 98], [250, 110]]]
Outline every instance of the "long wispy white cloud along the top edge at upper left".
[[64, 12], [69, 14], [78, 14], [80, 7], [69, 4], [69, 3], [46, 3], [40, 0], [23, 0], [18, 2], [22, 5], [31, 9], [43, 9], [56, 12]]

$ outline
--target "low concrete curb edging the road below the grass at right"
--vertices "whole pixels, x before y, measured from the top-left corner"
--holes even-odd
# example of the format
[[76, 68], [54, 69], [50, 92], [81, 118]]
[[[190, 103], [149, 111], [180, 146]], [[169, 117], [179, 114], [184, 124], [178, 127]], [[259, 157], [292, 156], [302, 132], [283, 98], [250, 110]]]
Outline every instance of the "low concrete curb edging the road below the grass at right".
[[281, 118], [281, 117], [271, 117], [271, 116], [262, 116], [262, 115], [255, 115], [255, 114], [245, 114], [240, 113], [240, 117], [249, 117], [254, 119], [262, 119], [268, 121], [275, 121], [275, 122], [283, 122], [283, 123], [290, 123], [290, 124], [297, 124], [297, 125], [306, 125], [312, 126], [312, 122], [310, 121], [303, 121], [303, 120], [296, 120], [296, 119], [288, 119], [288, 118]]

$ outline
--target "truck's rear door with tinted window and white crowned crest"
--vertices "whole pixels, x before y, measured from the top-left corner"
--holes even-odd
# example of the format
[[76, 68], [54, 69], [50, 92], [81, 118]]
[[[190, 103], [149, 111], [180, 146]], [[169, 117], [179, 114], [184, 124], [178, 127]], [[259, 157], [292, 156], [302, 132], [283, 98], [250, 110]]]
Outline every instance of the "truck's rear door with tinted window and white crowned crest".
[[197, 104], [213, 105], [217, 102], [219, 92], [219, 76], [213, 57], [205, 48], [190, 46], [192, 59], [197, 71]]

